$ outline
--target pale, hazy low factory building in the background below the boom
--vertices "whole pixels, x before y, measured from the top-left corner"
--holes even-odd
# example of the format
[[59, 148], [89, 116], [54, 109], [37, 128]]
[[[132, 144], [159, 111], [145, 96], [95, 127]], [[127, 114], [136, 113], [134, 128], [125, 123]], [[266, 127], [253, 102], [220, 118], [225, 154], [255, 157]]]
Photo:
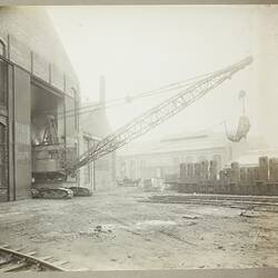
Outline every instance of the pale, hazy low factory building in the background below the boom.
[[[198, 132], [197, 132], [198, 133]], [[130, 143], [117, 156], [117, 177], [130, 179], [177, 177], [180, 163], [217, 160], [217, 171], [246, 153], [265, 146], [260, 137], [230, 142], [225, 135], [170, 136], [157, 142]]]

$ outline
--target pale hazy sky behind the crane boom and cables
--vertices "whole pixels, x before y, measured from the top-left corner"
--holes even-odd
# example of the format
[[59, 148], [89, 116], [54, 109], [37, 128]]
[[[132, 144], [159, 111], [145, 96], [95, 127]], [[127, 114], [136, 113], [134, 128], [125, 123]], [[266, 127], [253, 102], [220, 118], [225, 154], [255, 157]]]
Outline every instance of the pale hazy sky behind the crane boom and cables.
[[[48, 7], [79, 77], [83, 99], [97, 101], [99, 77], [107, 100], [123, 98], [218, 70], [251, 54], [255, 6]], [[197, 131], [228, 120], [236, 129], [240, 90], [256, 132], [251, 68], [165, 122], [143, 139]], [[107, 111], [113, 129], [171, 95], [143, 98]], [[217, 127], [215, 127], [217, 130]], [[218, 127], [222, 130], [222, 127]]]

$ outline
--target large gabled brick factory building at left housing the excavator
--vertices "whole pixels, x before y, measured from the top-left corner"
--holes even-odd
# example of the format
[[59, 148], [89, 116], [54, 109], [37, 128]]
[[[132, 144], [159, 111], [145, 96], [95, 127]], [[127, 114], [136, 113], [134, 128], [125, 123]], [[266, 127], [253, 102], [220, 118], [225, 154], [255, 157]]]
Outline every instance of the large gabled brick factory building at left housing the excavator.
[[[0, 8], [0, 199], [16, 200], [30, 197], [33, 149], [50, 117], [59, 143], [80, 153], [80, 91], [43, 8]], [[71, 117], [64, 117], [68, 110]]]

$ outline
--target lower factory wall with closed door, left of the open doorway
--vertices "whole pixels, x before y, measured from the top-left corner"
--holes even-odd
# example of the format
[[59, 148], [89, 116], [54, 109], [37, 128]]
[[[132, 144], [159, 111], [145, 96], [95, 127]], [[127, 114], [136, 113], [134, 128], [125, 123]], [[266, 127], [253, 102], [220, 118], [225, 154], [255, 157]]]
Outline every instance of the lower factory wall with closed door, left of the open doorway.
[[31, 110], [30, 75], [1, 61], [1, 200], [30, 196]]

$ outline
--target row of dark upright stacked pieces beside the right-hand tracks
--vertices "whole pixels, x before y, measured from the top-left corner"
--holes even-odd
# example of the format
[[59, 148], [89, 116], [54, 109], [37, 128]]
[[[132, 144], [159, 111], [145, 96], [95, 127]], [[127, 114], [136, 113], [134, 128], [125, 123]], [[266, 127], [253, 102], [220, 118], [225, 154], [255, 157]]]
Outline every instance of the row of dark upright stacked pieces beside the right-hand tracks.
[[230, 167], [217, 172], [216, 160], [180, 165], [179, 192], [278, 195], [278, 158], [260, 157], [256, 167]]

